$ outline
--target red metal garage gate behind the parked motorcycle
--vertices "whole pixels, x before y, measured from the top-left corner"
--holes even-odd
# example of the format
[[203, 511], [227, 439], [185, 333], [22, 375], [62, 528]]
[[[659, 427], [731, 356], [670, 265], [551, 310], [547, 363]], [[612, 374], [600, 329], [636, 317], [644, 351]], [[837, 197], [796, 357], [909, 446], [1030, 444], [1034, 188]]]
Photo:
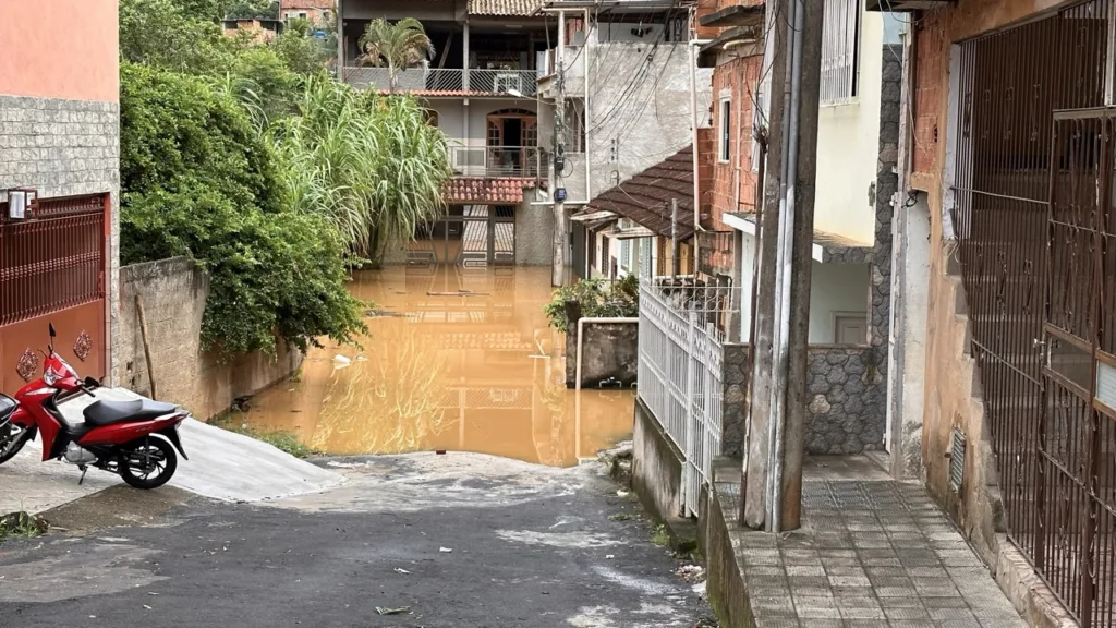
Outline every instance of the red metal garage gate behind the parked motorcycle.
[[12, 221], [0, 203], [0, 391], [41, 372], [48, 322], [79, 373], [106, 374], [108, 211], [107, 194], [40, 199]]

